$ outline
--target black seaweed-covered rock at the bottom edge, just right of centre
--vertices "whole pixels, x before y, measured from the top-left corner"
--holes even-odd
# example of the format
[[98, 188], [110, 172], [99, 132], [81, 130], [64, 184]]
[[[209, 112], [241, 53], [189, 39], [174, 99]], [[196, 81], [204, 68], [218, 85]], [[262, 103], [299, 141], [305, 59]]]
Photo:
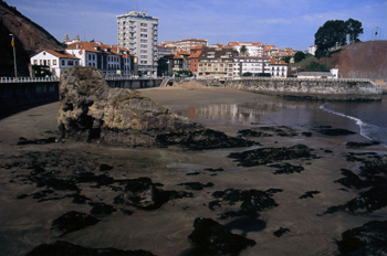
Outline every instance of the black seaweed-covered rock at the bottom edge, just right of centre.
[[186, 255], [239, 255], [242, 249], [255, 245], [254, 241], [232, 234], [211, 218], [197, 217], [194, 227], [188, 236], [194, 248]]

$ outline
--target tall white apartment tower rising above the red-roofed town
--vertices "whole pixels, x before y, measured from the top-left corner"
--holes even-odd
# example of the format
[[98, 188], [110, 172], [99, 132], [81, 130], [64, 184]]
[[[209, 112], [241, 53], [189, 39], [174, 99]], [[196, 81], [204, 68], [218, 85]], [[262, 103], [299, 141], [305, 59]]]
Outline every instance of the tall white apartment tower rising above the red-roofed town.
[[147, 12], [132, 11], [117, 15], [118, 45], [137, 56], [138, 72], [157, 74], [158, 18]]

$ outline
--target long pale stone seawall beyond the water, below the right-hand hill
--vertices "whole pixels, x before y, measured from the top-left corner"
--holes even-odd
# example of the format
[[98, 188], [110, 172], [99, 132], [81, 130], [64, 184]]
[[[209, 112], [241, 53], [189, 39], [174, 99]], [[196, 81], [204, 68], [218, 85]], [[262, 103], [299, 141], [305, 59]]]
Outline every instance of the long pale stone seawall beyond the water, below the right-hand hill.
[[248, 92], [317, 100], [381, 100], [383, 89], [367, 79], [252, 78], [201, 81], [207, 86], [224, 86]]

